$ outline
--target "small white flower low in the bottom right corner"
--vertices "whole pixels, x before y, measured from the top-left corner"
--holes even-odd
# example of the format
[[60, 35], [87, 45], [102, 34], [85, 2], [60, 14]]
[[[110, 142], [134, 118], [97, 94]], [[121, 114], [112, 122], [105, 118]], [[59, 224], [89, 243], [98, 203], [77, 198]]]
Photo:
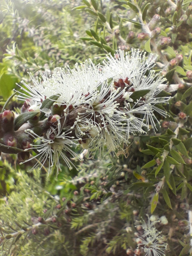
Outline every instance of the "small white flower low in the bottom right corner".
[[167, 243], [164, 242], [161, 232], [159, 232], [155, 224], [159, 222], [158, 220], [150, 221], [148, 217], [148, 222], [143, 221], [143, 235], [136, 239], [137, 248], [143, 249], [145, 256], [165, 256], [165, 251], [167, 248]]

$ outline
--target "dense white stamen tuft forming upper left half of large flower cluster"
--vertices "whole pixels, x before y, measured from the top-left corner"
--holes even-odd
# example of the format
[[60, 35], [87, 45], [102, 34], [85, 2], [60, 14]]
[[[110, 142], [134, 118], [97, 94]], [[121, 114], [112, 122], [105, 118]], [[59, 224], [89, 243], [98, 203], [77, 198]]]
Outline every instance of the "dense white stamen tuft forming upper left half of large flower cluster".
[[[35, 79], [31, 74], [32, 86], [25, 82], [21, 83], [26, 87], [19, 92], [18, 99], [32, 99], [35, 102], [42, 102], [52, 95], [59, 95], [57, 102], [65, 104], [66, 110], [70, 105], [78, 106], [89, 102], [100, 84], [106, 80], [100, 66], [95, 66], [91, 60], [86, 60], [80, 66], [75, 65], [74, 69], [69, 67], [55, 68], [51, 76], [40, 72], [41, 78]], [[21, 87], [21, 86], [20, 86]]]

